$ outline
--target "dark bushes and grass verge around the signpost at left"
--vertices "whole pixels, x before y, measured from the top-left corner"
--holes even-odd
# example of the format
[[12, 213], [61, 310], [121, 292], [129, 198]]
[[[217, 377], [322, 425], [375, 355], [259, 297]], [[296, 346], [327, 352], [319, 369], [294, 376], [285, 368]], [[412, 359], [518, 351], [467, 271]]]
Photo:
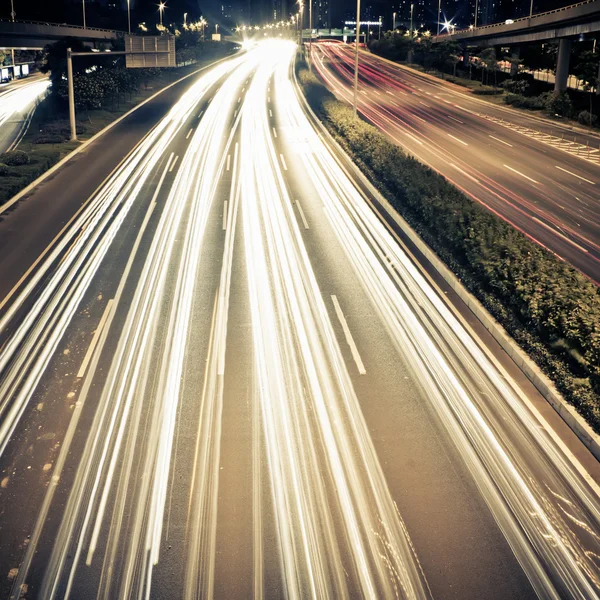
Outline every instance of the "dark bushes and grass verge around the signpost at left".
[[[77, 40], [60, 40], [46, 49], [40, 70], [49, 74], [49, 93], [33, 114], [18, 150], [0, 155], [0, 204], [79, 145], [69, 141], [68, 47], [74, 52], [87, 50]], [[90, 58], [78, 57], [73, 61], [77, 137], [89, 139], [169, 83], [233, 51], [232, 44], [186, 35], [178, 49], [178, 60], [185, 66], [178, 69], [126, 69], [122, 55], [101, 52]]]

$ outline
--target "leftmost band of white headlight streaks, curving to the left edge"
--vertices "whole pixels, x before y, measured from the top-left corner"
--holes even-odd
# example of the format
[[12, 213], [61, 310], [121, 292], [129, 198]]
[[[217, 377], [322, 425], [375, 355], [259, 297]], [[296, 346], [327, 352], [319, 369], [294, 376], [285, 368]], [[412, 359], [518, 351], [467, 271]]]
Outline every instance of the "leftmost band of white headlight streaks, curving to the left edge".
[[218, 65], [186, 92], [96, 194], [2, 315], [0, 332], [11, 323], [36, 286], [51, 274], [0, 353], [0, 455], [142, 187], [197, 102], [239, 62], [237, 59]]

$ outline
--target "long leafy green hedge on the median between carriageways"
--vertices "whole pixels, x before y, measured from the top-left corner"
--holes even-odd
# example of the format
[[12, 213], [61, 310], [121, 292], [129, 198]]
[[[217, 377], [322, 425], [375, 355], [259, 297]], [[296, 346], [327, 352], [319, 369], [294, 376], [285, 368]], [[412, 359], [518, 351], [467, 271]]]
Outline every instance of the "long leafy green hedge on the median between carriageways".
[[354, 115], [303, 65], [311, 108], [392, 206], [600, 432], [600, 291]]

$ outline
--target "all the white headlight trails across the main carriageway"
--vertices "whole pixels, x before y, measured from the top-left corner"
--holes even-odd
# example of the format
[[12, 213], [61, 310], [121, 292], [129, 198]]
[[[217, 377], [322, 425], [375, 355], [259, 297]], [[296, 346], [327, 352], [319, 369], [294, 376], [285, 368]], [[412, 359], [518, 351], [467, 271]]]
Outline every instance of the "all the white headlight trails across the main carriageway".
[[[111, 242], [127, 212], [151, 197], [118, 270], [112, 308], [85, 357], [83, 387], [13, 581], [15, 597], [36, 567], [43, 598], [149, 598], [165, 590], [214, 597], [219, 498], [229, 493], [219, 475], [224, 390], [228, 378], [238, 377], [248, 377], [254, 390], [234, 399], [251, 404], [246, 595], [272, 594], [267, 580], [274, 571], [278, 593], [290, 598], [431, 595], [361, 410], [371, 399], [355, 389], [369, 376], [369, 360], [380, 357], [360, 347], [358, 323], [344, 317], [352, 296], [325, 294], [317, 275], [323, 229], [324, 251], [335, 246], [344, 261], [335, 267], [347, 267], [350, 286], [364, 291], [379, 317], [367, 327], [380, 329], [395, 359], [410, 366], [422, 402], [447, 430], [536, 593], [598, 597], [597, 495], [316, 133], [290, 79], [294, 54], [293, 44], [269, 41], [199, 78], [3, 315], [0, 330], [27, 309], [0, 354], [1, 450], [60, 340], [72, 334], [83, 297], [114, 260]], [[198, 121], [198, 103], [209, 90], [214, 101]], [[185, 141], [190, 119], [194, 129]], [[185, 148], [179, 154], [175, 137]], [[303, 184], [296, 206], [294, 177]], [[239, 373], [227, 353], [239, 343], [230, 323], [239, 255], [247, 298], [237, 302], [251, 325], [250, 373]], [[89, 423], [73, 456], [84, 407]], [[184, 408], [193, 439], [181, 450], [185, 481], [175, 483]], [[74, 475], [67, 488], [68, 468]], [[64, 506], [55, 498], [59, 491]], [[184, 505], [173, 513], [177, 523], [171, 493]], [[52, 515], [56, 530], [53, 508], [61, 511]], [[166, 523], [179, 529], [184, 549], [180, 577], [171, 580], [168, 567], [158, 591]], [[44, 534], [52, 535], [51, 551], [40, 565]]]

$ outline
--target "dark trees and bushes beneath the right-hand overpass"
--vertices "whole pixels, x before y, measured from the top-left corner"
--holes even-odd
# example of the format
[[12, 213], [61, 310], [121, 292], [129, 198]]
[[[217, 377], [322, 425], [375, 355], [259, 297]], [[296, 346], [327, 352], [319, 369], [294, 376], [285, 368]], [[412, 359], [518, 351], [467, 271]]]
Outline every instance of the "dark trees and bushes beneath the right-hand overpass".
[[[554, 73], [557, 43], [531, 44], [523, 47], [520, 57], [495, 48], [480, 48], [467, 57], [458, 42], [433, 43], [431, 36], [418, 34], [411, 39], [408, 32], [388, 31], [381, 40], [373, 40], [369, 49], [390, 60], [410, 63], [418, 70], [471, 90], [473, 94], [490, 96], [515, 108], [542, 111], [550, 117], [571, 119], [580, 125], [598, 127], [600, 97], [598, 86], [600, 53], [592, 40], [574, 45], [571, 73], [580, 80], [583, 90], [554, 94], [553, 85], [536, 79], [536, 70]], [[510, 65], [511, 73], [500, 69]]]

